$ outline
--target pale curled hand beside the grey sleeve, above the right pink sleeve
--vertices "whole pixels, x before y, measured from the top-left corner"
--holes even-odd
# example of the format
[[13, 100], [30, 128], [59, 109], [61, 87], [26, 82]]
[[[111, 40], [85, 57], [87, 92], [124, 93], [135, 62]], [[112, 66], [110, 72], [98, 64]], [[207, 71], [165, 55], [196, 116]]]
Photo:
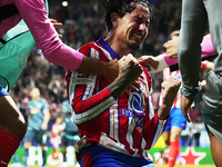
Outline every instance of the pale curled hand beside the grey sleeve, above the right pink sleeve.
[[169, 59], [178, 59], [178, 41], [176, 40], [169, 40], [163, 45], [167, 49]]

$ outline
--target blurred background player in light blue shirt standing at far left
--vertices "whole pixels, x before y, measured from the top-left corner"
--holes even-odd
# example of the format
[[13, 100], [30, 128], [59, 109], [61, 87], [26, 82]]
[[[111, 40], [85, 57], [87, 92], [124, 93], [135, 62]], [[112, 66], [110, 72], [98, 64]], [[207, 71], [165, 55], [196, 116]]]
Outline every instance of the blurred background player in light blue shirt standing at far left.
[[23, 139], [23, 166], [28, 166], [29, 147], [32, 146], [32, 143], [36, 139], [42, 150], [42, 167], [44, 167], [47, 163], [47, 150], [44, 149], [47, 141], [46, 130], [50, 119], [49, 104], [46, 99], [41, 98], [39, 88], [32, 88], [30, 90], [30, 96], [31, 100], [28, 102], [28, 130]]

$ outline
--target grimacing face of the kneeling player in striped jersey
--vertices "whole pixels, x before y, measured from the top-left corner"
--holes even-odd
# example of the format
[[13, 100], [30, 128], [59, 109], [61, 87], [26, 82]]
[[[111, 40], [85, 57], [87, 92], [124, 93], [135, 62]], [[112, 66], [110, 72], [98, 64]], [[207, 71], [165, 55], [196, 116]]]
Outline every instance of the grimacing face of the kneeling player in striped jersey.
[[148, 35], [150, 24], [149, 9], [137, 4], [137, 8], [119, 19], [115, 35], [120, 45], [127, 45], [129, 49], [138, 49]]

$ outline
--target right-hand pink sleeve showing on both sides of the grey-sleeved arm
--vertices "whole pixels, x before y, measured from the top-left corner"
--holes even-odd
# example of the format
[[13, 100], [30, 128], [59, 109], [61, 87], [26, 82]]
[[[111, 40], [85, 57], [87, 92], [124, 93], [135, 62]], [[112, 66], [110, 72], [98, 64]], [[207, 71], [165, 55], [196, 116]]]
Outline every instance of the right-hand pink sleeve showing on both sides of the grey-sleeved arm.
[[[203, 40], [201, 42], [201, 48], [202, 48], [202, 55], [201, 55], [202, 58], [216, 55], [216, 52], [214, 51], [214, 48], [213, 48], [213, 43], [212, 43], [210, 33], [203, 37]], [[164, 58], [165, 62], [168, 63], [168, 66], [178, 63], [178, 59], [169, 59], [167, 52], [163, 52], [162, 55], [164, 55], [163, 58]]]

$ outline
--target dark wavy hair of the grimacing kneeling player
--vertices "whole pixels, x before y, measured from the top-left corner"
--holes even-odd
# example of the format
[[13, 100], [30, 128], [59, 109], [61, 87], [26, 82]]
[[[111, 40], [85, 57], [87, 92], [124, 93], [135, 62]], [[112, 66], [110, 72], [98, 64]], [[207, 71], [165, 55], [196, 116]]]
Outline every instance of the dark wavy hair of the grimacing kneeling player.
[[127, 12], [131, 13], [138, 3], [149, 8], [150, 19], [154, 19], [153, 11], [150, 9], [148, 0], [108, 0], [104, 13], [108, 30], [110, 31], [112, 28], [111, 13], [117, 12], [120, 18], [123, 18]]

